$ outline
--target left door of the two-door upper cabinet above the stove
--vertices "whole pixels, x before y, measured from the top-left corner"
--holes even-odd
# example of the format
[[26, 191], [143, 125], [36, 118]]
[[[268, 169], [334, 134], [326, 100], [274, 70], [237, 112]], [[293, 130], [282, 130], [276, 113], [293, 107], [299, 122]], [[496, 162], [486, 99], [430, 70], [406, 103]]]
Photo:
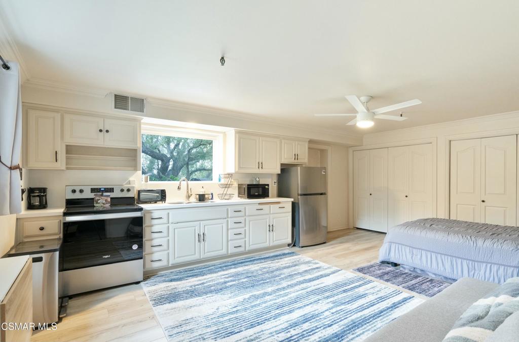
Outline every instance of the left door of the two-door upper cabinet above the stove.
[[63, 115], [65, 143], [103, 145], [104, 134], [103, 118], [66, 113]]

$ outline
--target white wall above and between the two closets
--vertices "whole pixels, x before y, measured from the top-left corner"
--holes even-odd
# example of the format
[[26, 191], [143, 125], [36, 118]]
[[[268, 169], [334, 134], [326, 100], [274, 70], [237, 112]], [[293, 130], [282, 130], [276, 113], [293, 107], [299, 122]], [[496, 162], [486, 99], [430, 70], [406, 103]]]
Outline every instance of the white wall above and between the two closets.
[[[519, 111], [367, 134], [363, 146], [373, 148], [409, 145], [423, 140], [436, 141], [436, 216], [448, 218], [449, 141], [488, 136], [519, 134]], [[352, 181], [350, 179], [350, 181]], [[350, 212], [352, 208], [350, 206]]]

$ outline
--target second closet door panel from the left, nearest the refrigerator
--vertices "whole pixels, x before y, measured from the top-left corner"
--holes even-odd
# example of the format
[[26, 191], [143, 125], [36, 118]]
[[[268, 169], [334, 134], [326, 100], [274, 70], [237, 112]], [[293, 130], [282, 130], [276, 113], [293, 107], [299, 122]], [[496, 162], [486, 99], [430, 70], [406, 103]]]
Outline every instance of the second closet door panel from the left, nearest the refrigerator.
[[388, 228], [388, 149], [370, 151], [371, 221], [370, 229], [387, 232]]

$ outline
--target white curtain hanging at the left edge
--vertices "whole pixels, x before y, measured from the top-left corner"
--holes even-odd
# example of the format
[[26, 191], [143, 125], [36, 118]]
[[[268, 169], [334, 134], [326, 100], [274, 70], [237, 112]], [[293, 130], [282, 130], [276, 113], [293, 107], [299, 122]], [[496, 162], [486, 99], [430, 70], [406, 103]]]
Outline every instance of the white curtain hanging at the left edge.
[[0, 215], [19, 213], [22, 209], [20, 163], [22, 146], [22, 103], [19, 66], [0, 67]]

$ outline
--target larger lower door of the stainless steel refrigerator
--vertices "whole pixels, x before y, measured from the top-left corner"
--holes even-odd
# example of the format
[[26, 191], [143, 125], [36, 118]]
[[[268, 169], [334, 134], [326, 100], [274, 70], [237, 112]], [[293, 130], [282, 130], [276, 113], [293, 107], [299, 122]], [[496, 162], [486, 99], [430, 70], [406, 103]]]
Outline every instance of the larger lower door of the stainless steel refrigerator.
[[298, 196], [299, 227], [296, 234], [299, 247], [326, 242], [327, 201], [327, 195]]

